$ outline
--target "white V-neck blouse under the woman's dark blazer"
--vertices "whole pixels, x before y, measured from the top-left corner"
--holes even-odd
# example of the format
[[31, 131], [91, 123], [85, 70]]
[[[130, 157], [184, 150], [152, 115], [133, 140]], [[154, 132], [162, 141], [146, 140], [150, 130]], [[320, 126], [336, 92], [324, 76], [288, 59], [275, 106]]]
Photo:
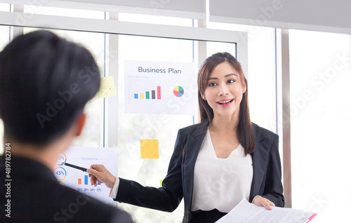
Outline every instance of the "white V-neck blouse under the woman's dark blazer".
[[194, 168], [192, 211], [230, 212], [242, 198], [249, 201], [253, 165], [239, 144], [227, 158], [218, 158], [207, 130]]

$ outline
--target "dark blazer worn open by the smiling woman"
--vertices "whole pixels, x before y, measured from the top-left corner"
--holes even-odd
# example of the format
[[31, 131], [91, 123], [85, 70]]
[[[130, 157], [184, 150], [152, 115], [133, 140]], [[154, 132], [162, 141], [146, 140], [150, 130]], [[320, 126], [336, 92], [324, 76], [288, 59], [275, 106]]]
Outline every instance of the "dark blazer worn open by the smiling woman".
[[[162, 187], [143, 187], [138, 182], [120, 178], [116, 201], [145, 208], [172, 212], [184, 197], [183, 223], [192, 219], [194, 165], [199, 154], [208, 122], [198, 123], [178, 131], [176, 145]], [[282, 170], [278, 151], [278, 135], [253, 123], [256, 150], [251, 154], [253, 179], [250, 199], [263, 196], [276, 206], [284, 206]], [[209, 164], [211, 165], [211, 164]]]

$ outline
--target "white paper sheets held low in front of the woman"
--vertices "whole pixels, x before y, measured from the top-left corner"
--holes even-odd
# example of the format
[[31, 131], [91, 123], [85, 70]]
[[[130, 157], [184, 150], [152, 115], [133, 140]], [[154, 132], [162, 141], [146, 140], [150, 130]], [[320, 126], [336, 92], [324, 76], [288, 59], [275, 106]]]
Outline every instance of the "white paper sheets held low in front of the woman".
[[305, 210], [272, 208], [272, 210], [267, 210], [264, 207], [249, 203], [249, 201], [244, 198], [216, 223], [307, 223], [317, 215]]

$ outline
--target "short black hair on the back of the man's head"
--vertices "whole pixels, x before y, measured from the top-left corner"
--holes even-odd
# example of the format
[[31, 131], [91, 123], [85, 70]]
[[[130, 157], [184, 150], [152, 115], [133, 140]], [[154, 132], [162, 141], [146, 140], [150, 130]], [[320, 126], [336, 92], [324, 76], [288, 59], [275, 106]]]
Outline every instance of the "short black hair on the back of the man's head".
[[91, 53], [52, 32], [18, 36], [0, 53], [0, 118], [6, 140], [45, 146], [67, 133], [98, 92]]

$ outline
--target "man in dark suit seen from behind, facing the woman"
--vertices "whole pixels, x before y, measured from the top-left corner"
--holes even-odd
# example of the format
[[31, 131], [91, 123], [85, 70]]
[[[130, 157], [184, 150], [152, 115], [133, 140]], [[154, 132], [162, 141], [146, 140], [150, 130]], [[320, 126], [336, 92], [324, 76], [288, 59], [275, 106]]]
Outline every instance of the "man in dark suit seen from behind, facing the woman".
[[58, 183], [58, 155], [81, 134], [98, 92], [91, 53], [52, 32], [18, 36], [0, 53], [0, 222], [133, 222], [126, 212]]

